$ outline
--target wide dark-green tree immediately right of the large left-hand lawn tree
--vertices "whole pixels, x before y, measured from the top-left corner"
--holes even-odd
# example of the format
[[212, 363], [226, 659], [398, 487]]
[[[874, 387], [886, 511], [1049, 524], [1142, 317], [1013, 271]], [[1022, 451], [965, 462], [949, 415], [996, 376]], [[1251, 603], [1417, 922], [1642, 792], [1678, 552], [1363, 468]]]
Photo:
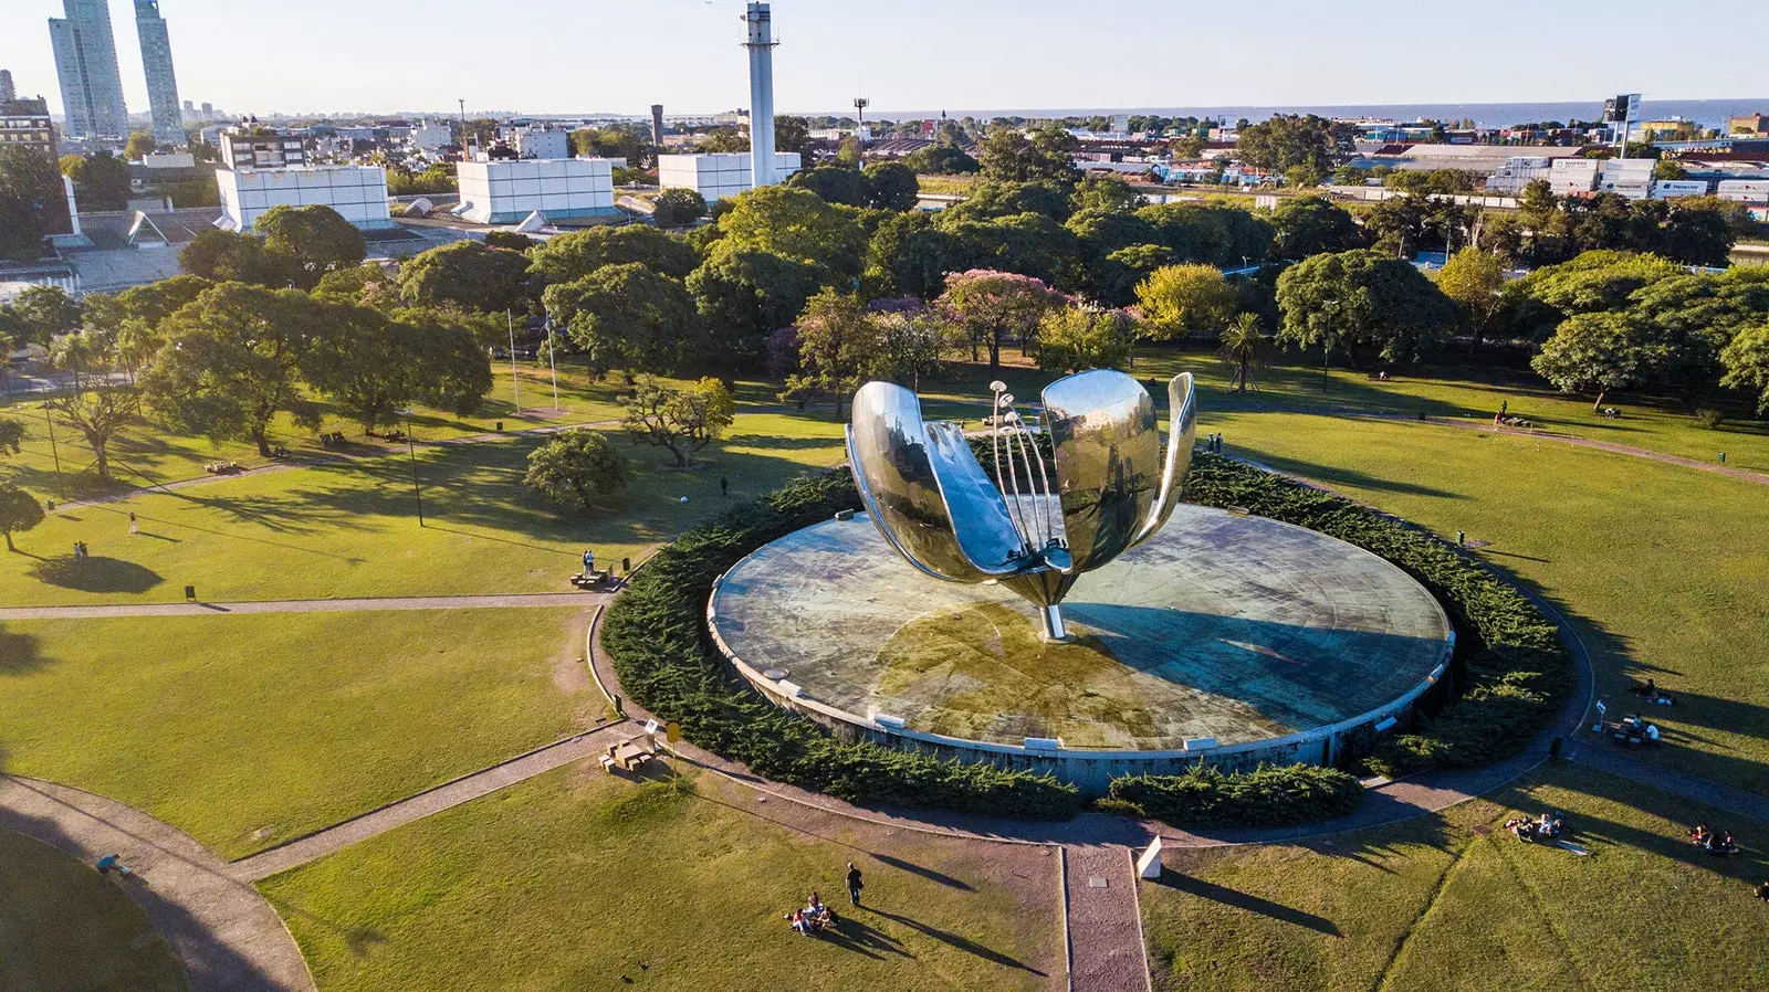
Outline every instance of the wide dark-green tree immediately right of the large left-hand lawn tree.
[[301, 357], [302, 378], [363, 431], [398, 423], [414, 401], [467, 416], [492, 391], [492, 366], [472, 332], [433, 311], [398, 318], [348, 302], [325, 304], [320, 334]]

